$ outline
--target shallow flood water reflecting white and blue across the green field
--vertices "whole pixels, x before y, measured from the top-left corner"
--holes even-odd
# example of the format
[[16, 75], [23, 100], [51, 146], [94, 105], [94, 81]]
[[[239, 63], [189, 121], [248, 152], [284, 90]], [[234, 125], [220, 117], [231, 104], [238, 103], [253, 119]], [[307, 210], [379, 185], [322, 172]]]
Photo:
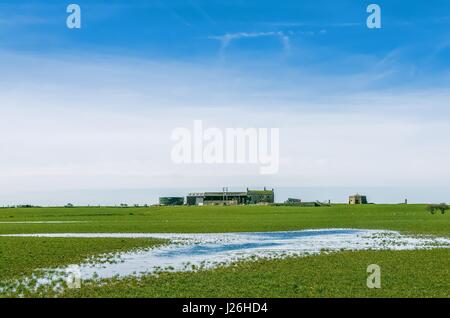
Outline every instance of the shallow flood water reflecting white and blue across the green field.
[[161, 238], [170, 244], [152, 249], [105, 254], [81, 264], [43, 269], [33, 277], [9, 283], [8, 289], [37, 288], [74, 276], [83, 280], [195, 271], [252, 259], [308, 256], [344, 250], [415, 250], [450, 248], [450, 239], [408, 236], [395, 231], [322, 229], [284, 232], [159, 234], [159, 233], [52, 233], [2, 236], [46, 238]]

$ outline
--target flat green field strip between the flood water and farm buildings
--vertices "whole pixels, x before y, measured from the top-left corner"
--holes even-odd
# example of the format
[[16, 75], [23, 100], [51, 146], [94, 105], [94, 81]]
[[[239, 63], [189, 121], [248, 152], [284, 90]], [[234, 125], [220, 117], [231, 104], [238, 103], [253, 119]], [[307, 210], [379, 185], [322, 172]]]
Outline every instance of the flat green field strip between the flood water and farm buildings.
[[[84, 221], [68, 224], [2, 224], [0, 234], [47, 232], [245, 232], [310, 228], [389, 229], [450, 235], [450, 213], [425, 205], [332, 207], [149, 207], [0, 209], [0, 222]], [[87, 221], [87, 222], [86, 222]]]

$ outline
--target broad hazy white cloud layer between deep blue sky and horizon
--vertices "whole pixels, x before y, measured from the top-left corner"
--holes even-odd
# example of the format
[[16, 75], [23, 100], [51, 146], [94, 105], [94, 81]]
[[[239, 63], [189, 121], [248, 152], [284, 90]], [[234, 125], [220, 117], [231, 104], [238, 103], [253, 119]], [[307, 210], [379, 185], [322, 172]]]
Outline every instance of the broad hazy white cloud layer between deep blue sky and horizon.
[[[313, 91], [323, 91], [319, 76], [280, 85], [276, 76], [261, 80], [214, 65], [3, 57], [2, 193], [230, 182], [448, 186], [450, 180], [445, 91], [332, 91], [311, 98], [299, 90], [318, 83]], [[355, 79], [341, 78], [347, 80]], [[194, 119], [219, 128], [279, 127], [279, 174], [172, 164], [171, 131]]]

